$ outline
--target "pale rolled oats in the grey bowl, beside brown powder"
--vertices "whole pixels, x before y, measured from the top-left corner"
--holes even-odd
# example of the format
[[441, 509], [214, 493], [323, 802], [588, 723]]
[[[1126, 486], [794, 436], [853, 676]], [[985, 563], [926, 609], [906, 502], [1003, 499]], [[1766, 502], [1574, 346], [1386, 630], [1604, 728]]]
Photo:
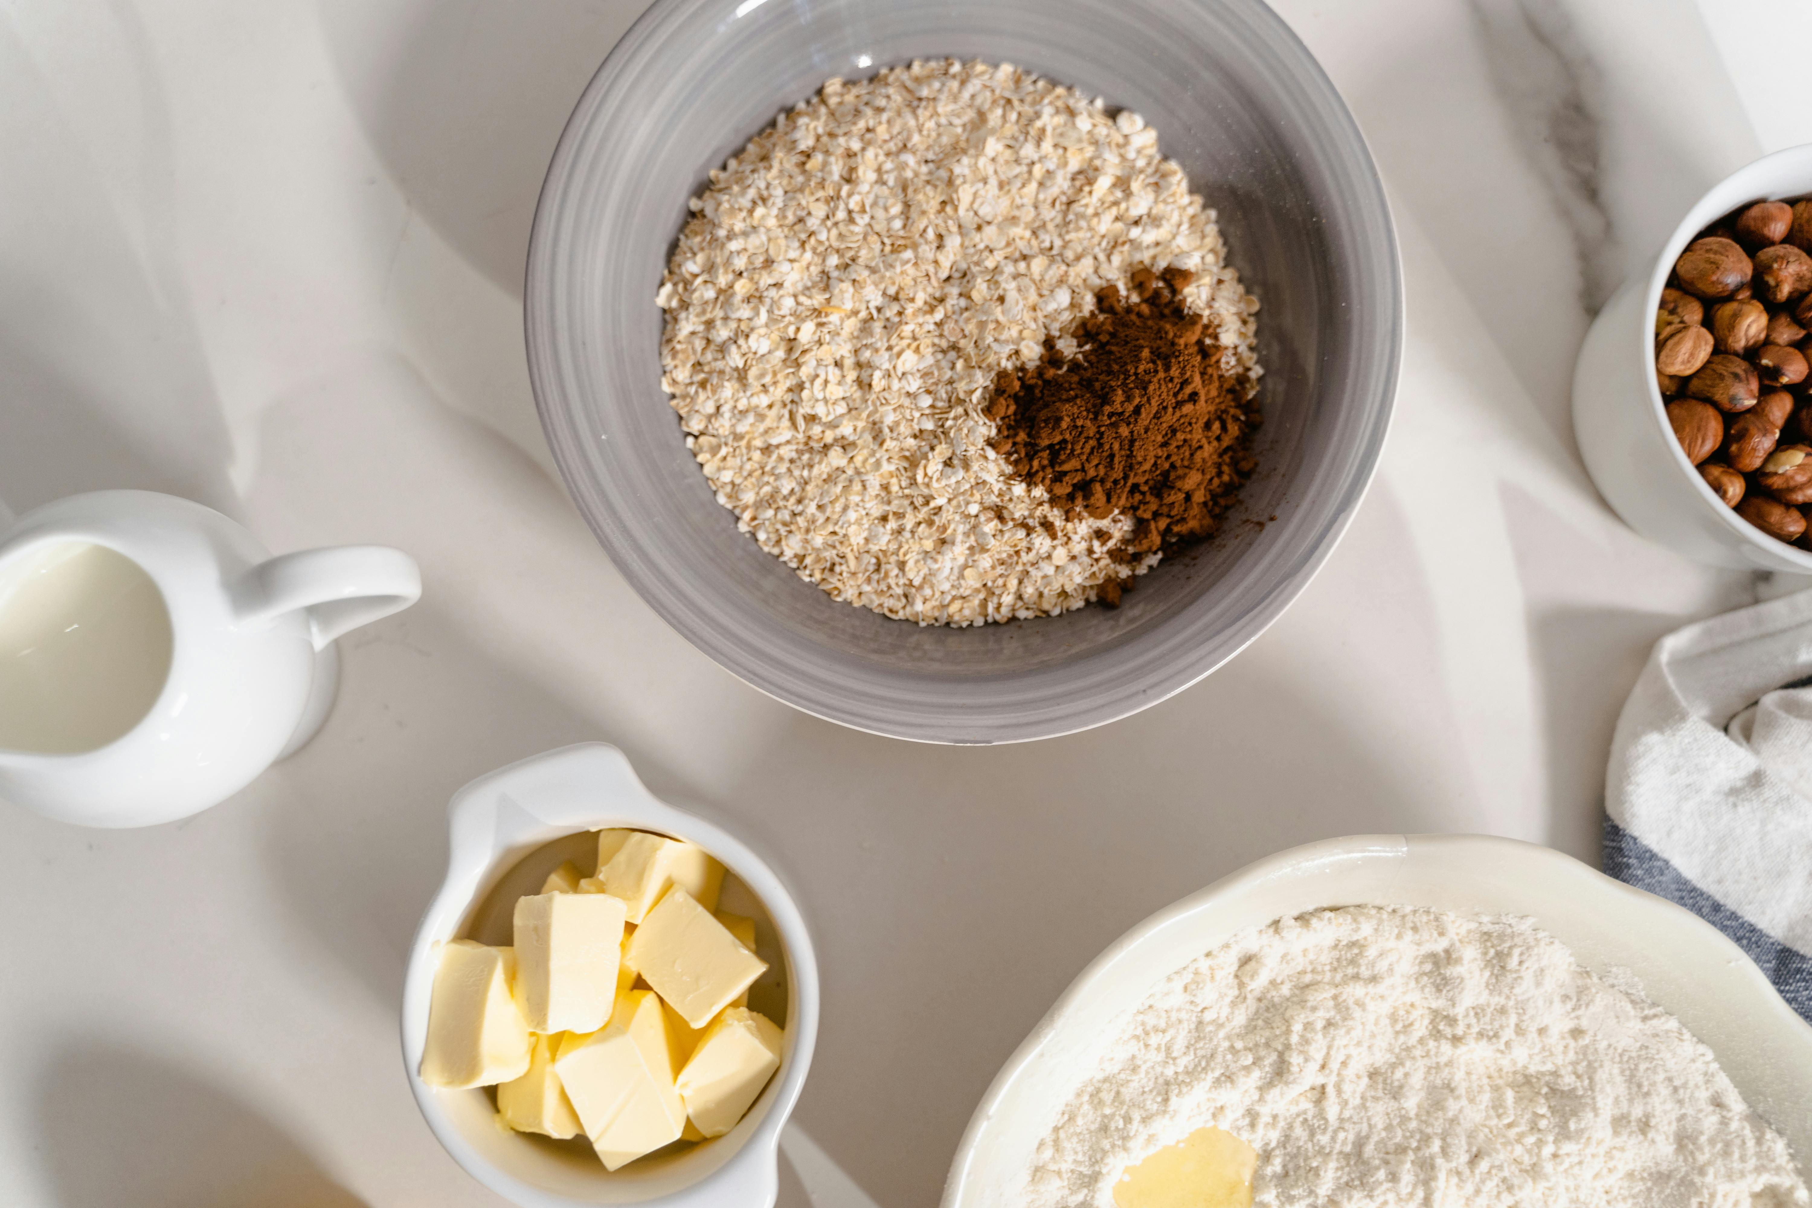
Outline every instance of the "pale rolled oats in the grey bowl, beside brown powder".
[[832, 80], [690, 205], [656, 297], [687, 446], [765, 551], [892, 618], [1065, 612], [1156, 563], [1114, 561], [1129, 518], [1065, 518], [989, 447], [995, 373], [1104, 286], [1194, 272], [1187, 304], [1258, 377], [1258, 302], [1156, 134], [1011, 65]]

